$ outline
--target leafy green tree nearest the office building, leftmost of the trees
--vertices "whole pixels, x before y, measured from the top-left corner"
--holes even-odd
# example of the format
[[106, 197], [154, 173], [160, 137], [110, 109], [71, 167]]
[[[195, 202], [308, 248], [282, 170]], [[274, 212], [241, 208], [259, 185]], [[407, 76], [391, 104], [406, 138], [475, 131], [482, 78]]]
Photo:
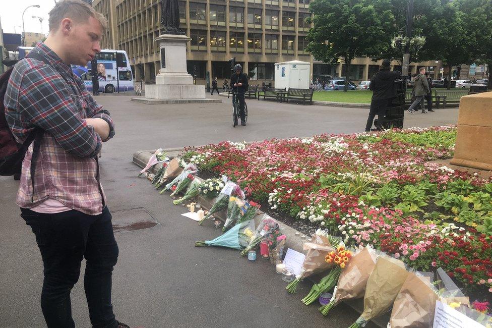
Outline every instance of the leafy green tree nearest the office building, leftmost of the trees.
[[394, 36], [395, 18], [390, 0], [314, 0], [309, 9], [314, 13], [307, 21], [313, 28], [307, 32], [307, 51], [324, 63], [340, 59], [348, 75], [356, 57], [375, 57]]

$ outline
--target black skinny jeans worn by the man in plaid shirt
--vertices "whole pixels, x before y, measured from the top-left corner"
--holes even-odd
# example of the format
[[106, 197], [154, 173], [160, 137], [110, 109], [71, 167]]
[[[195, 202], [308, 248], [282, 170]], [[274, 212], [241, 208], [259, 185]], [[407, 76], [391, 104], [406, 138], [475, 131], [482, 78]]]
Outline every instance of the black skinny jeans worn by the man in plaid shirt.
[[21, 208], [21, 216], [36, 235], [44, 264], [41, 309], [48, 328], [75, 327], [70, 291], [79, 280], [80, 263], [87, 265], [84, 289], [93, 327], [116, 327], [111, 304], [111, 275], [118, 245], [105, 207], [99, 215], [76, 210], [55, 214]]

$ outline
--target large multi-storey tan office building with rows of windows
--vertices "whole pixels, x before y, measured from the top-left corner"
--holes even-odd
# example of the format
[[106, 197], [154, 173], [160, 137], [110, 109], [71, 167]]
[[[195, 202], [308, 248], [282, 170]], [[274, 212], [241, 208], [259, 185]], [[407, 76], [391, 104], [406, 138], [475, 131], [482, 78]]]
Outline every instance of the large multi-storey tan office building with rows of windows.
[[[345, 65], [318, 63], [305, 51], [310, 26], [304, 19], [310, 16], [309, 1], [179, 1], [180, 28], [192, 39], [187, 45], [188, 72], [196, 72], [197, 83], [202, 84], [206, 77], [209, 83], [214, 77], [229, 78], [229, 59], [235, 57], [252, 84], [273, 81], [274, 63], [291, 60], [311, 63], [312, 78], [345, 76]], [[136, 64], [144, 63], [145, 82], [153, 82], [160, 68], [154, 42], [160, 34], [160, 2], [94, 0], [92, 5], [109, 21], [102, 47], [126, 50], [134, 72]], [[357, 58], [352, 64], [349, 77], [358, 81], [376, 73], [380, 63]], [[416, 72], [417, 66], [410, 69]], [[140, 80], [140, 72], [135, 74]]]

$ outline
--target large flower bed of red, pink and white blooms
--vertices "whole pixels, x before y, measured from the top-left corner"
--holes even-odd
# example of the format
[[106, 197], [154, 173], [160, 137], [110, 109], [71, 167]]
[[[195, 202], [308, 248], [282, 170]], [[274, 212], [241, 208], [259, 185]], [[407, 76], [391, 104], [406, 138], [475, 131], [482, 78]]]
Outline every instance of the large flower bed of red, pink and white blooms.
[[454, 126], [413, 128], [222, 142], [183, 159], [313, 230], [373, 244], [417, 269], [441, 266], [492, 293], [492, 180], [429, 162], [452, 157], [455, 140]]

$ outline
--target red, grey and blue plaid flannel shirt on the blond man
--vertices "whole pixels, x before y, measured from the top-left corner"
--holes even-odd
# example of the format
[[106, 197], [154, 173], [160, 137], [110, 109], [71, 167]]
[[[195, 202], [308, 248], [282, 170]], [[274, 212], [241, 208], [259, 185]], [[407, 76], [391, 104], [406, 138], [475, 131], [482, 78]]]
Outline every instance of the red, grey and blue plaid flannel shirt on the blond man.
[[[55, 52], [43, 43], [32, 51], [44, 56], [48, 65], [32, 58], [21, 60], [12, 72], [4, 100], [7, 122], [18, 142], [22, 143], [35, 127], [44, 131], [34, 189], [31, 144], [22, 162], [17, 205], [31, 208], [51, 198], [97, 215], [102, 212], [105, 195], [97, 181], [96, 156], [102, 141], [113, 137], [114, 124], [109, 112], [96, 103], [84, 82]], [[109, 124], [107, 140], [101, 140], [86, 118], [100, 118]]]

